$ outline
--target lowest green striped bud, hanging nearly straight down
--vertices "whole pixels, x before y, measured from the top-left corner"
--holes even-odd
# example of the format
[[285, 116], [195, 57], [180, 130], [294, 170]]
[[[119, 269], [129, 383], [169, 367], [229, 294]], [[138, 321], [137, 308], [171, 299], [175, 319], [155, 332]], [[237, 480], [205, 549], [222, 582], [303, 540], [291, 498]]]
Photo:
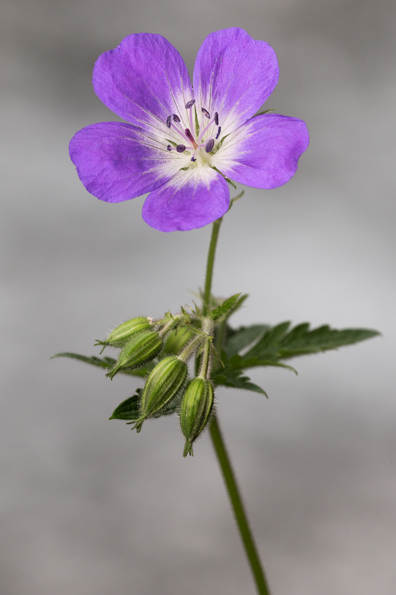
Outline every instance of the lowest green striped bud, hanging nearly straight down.
[[191, 380], [180, 404], [180, 426], [186, 438], [183, 456], [193, 454], [192, 443], [207, 425], [213, 403], [214, 392], [211, 382], [201, 377]]

